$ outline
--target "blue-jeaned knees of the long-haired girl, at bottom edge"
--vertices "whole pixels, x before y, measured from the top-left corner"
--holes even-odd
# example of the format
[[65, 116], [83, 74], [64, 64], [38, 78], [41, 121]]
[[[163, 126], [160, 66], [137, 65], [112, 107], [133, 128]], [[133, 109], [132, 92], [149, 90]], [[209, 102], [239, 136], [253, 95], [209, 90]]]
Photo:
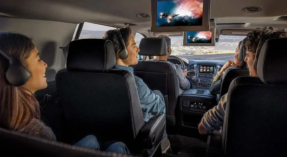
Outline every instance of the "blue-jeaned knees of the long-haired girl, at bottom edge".
[[[74, 144], [74, 146], [92, 148], [95, 150], [100, 149], [100, 144], [96, 136], [93, 136], [93, 135], [88, 135], [84, 137], [82, 140]], [[128, 155], [130, 154], [129, 149], [123, 142], [116, 142], [116, 143], [111, 144], [106, 149], [106, 152], [115, 152], [115, 153], [128, 154]]]

